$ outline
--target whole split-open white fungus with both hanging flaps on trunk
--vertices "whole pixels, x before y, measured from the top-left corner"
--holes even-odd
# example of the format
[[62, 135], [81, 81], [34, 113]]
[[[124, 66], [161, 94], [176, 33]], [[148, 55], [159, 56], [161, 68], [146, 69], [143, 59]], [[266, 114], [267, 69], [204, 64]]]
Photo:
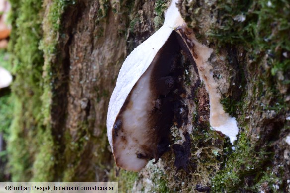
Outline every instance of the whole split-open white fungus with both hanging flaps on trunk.
[[210, 125], [236, 140], [236, 120], [225, 113], [221, 94], [210, 72], [208, 59], [212, 49], [197, 42], [186, 27], [172, 0], [165, 13], [164, 25], [135, 48], [123, 63], [112, 93], [107, 115], [107, 133], [116, 165], [140, 171], [149, 160], [169, 149], [168, 134], [174, 114], [176, 58], [180, 51], [195, 61], [200, 79], [210, 98]]

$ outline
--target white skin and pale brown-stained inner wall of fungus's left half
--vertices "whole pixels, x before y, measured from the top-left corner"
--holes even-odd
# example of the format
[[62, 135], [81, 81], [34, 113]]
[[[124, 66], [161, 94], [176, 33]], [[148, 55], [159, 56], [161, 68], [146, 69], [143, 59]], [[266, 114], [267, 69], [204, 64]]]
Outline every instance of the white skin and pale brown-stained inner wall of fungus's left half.
[[[154, 118], [150, 115], [158, 98], [153, 96], [150, 82], [156, 64], [154, 60], [158, 60], [157, 53], [174, 28], [183, 23], [179, 12], [176, 12], [176, 2], [174, 0], [167, 10], [164, 25], [126, 58], [109, 102], [109, 143], [116, 164], [127, 170], [139, 171], [147, 164], [148, 159], [158, 159], [154, 136], [157, 129], [151, 125]], [[125, 104], [127, 99], [129, 101]], [[126, 109], [120, 113], [122, 107]]]

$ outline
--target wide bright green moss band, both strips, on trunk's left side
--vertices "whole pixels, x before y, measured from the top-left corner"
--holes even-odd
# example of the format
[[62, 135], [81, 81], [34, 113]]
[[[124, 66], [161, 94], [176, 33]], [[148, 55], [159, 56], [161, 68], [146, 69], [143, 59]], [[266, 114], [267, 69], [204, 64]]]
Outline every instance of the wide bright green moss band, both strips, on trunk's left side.
[[13, 181], [51, 181], [58, 161], [58, 146], [50, 123], [51, 61], [58, 50], [62, 13], [68, 5], [75, 4], [75, 0], [53, 1], [44, 21], [47, 6], [43, 6], [43, 2], [11, 0], [13, 31], [9, 51], [13, 53], [16, 80], [12, 86], [14, 119], [8, 152]]

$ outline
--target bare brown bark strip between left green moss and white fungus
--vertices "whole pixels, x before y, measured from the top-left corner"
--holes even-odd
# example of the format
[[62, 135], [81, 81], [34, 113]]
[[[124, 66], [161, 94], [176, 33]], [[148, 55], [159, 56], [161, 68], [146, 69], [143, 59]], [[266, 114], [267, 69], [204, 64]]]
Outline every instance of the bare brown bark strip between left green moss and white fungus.
[[[63, 49], [65, 63], [62, 65], [65, 65], [66, 70], [61, 76], [64, 77], [67, 90], [60, 88], [61, 92], [66, 92], [65, 96], [57, 96], [58, 102], [52, 108], [59, 123], [54, 127], [70, 136], [70, 140], [61, 146], [65, 147], [66, 143], [77, 142], [81, 138], [87, 141], [81, 147], [81, 158], [73, 155], [71, 149], [64, 150], [66, 153], [71, 151], [69, 154], [65, 153], [65, 163], [74, 165], [79, 160], [72, 180], [85, 180], [94, 173], [100, 181], [106, 180], [105, 172], [94, 166], [98, 160], [105, 160], [102, 164], [106, 166], [112, 159], [109, 152], [97, 152], [101, 148], [108, 151], [104, 137], [106, 114], [109, 96], [114, 88], [120, 62], [124, 58], [125, 39], [118, 35], [116, 28], [121, 25], [121, 21], [114, 17], [112, 11], [108, 10], [104, 22], [96, 24], [99, 10], [100, 2], [82, 1], [67, 8], [63, 17], [63, 22], [66, 23], [63, 36], [67, 38], [63, 39], [66, 44]], [[98, 38], [100, 28], [103, 32]], [[61, 105], [65, 106], [59, 108]], [[59, 112], [63, 112], [62, 117], [58, 115]], [[57, 119], [52, 117], [52, 120]], [[100, 159], [100, 156], [103, 157]]]

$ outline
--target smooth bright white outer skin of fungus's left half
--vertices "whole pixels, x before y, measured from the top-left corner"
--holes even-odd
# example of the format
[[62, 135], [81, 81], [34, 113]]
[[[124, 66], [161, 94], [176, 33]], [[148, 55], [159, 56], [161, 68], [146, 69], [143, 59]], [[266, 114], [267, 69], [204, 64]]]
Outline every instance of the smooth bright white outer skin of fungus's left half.
[[172, 0], [170, 7], [165, 13], [164, 25], [135, 48], [120, 69], [116, 87], [110, 98], [107, 114], [107, 135], [111, 148], [113, 124], [126, 98], [136, 82], [147, 70], [159, 49], [165, 44], [174, 28], [184, 22], [175, 6], [177, 2], [178, 0]]

